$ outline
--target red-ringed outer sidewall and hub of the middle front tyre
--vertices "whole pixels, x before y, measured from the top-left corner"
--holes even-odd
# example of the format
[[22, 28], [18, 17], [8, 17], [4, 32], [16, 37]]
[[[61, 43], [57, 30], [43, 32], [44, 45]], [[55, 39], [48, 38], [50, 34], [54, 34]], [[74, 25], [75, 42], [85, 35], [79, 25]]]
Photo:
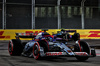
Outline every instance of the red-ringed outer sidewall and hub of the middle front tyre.
[[40, 45], [39, 45], [39, 43], [37, 42], [37, 43], [35, 43], [34, 45], [33, 45], [33, 56], [34, 56], [34, 58], [37, 60], [37, 59], [40, 59]]

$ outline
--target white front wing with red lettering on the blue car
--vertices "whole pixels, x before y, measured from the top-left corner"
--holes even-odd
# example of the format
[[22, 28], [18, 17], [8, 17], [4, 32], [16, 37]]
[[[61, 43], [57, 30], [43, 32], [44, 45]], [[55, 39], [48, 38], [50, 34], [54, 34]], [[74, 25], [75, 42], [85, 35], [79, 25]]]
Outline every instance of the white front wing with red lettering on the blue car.
[[72, 52], [71, 50], [67, 50], [68, 52], [46, 52], [44, 53], [43, 48], [40, 48], [40, 56], [68, 56], [68, 57], [75, 57], [75, 56], [83, 56], [83, 57], [95, 57], [95, 50], [91, 49], [90, 54], [87, 52]]

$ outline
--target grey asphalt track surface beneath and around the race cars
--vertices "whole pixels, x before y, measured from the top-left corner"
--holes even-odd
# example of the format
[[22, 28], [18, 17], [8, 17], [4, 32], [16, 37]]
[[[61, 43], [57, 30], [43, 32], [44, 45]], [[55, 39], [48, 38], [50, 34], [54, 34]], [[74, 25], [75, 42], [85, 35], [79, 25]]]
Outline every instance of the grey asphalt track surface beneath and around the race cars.
[[[90, 45], [100, 45], [99, 40], [85, 40]], [[97, 57], [89, 58], [85, 62], [78, 61], [75, 57], [44, 58], [35, 60], [23, 56], [10, 56], [8, 41], [0, 41], [0, 66], [100, 66], [100, 50], [96, 49]]]

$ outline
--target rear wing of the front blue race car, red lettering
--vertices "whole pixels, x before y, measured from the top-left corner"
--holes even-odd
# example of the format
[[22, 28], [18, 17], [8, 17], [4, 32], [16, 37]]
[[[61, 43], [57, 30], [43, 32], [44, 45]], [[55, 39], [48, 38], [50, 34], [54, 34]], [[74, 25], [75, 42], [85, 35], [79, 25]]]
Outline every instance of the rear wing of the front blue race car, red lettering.
[[38, 33], [16, 33], [16, 39], [19, 38], [34, 38]]

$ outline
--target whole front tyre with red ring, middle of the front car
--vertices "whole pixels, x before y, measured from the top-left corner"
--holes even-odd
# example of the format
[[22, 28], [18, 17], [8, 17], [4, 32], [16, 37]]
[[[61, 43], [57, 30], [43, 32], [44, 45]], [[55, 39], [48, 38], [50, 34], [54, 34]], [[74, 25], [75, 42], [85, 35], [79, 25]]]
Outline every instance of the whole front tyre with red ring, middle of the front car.
[[36, 60], [41, 59], [42, 57], [40, 56], [40, 47], [43, 48], [44, 53], [49, 51], [49, 45], [46, 40], [41, 40], [36, 42], [33, 45], [33, 56]]

